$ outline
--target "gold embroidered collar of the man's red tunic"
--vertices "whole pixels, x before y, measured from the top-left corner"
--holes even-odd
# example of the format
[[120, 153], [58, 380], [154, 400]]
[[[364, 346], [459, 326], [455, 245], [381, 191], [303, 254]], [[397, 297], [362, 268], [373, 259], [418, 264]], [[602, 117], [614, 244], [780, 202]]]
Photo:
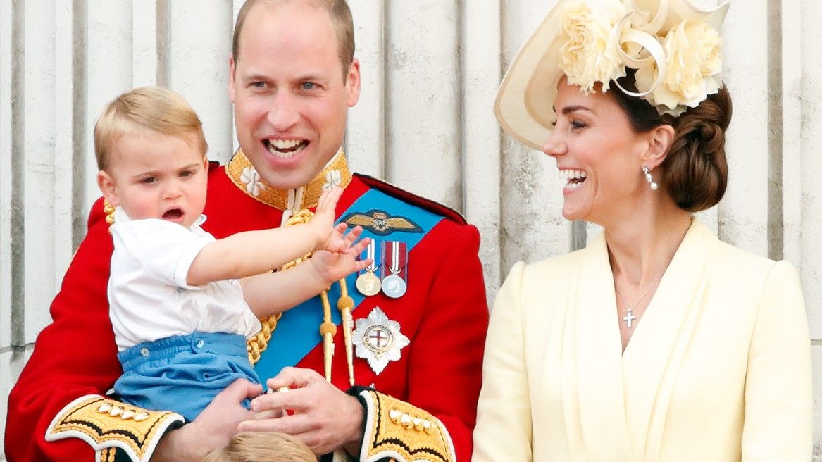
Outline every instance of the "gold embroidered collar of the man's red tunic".
[[293, 204], [290, 207], [291, 210], [310, 209], [315, 207], [317, 201], [320, 200], [323, 189], [333, 186], [345, 188], [351, 182], [349, 163], [345, 160], [342, 148], [311, 182], [297, 189], [271, 187], [266, 180], [260, 177], [260, 173], [257, 173], [251, 161], [240, 149], [234, 153], [229, 164], [225, 166], [225, 173], [242, 192], [279, 210], [289, 209], [289, 193], [295, 198], [301, 196], [302, 193], [302, 203]]

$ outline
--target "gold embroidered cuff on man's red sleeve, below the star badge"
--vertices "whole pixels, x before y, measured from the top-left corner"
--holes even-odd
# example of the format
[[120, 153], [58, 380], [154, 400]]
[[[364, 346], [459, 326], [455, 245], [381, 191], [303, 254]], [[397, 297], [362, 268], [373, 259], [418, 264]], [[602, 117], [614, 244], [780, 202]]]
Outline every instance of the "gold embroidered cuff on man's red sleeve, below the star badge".
[[454, 445], [440, 419], [376, 391], [360, 396], [367, 413], [361, 461], [455, 462]]

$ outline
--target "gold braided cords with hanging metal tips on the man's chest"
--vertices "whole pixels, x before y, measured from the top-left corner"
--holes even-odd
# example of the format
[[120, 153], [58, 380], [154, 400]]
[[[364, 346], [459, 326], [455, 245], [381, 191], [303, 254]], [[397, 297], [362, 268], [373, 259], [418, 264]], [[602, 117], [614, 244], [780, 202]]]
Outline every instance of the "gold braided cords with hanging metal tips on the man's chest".
[[[311, 210], [303, 209], [289, 218], [285, 225], [292, 226], [294, 224], [307, 223], [312, 219], [312, 216], [314, 216], [314, 214]], [[290, 270], [294, 266], [298, 266], [303, 261], [307, 261], [311, 258], [311, 255], [311, 253], [308, 253], [307, 255], [302, 256], [302, 258], [289, 261], [285, 265], [280, 266], [279, 270]], [[345, 356], [349, 366], [349, 382], [353, 385], [353, 353], [351, 345], [351, 328], [353, 327], [351, 310], [353, 309], [353, 299], [349, 297], [345, 280], [340, 280], [339, 284], [341, 296], [337, 302], [337, 307], [343, 316]], [[334, 336], [337, 333], [337, 326], [335, 326], [334, 321], [331, 320], [331, 304], [328, 300], [327, 289], [320, 293], [320, 299], [322, 303], [322, 324], [320, 325], [320, 335], [322, 335], [323, 365], [325, 366], [324, 372], [326, 380], [331, 381], [331, 358], [334, 356]], [[281, 316], [283, 316], [283, 313], [277, 313], [260, 320], [262, 325], [260, 332], [257, 332], [257, 334], [249, 339], [247, 343], [248, 360], [252, 364], [256, 364], [260, 361], [262, 352], [266, 351], [266, 348], [268, 348], [268, 342], [271, 340], [271, 335], [274, 334], [274, 330], [277, 328], [277, 322]]]

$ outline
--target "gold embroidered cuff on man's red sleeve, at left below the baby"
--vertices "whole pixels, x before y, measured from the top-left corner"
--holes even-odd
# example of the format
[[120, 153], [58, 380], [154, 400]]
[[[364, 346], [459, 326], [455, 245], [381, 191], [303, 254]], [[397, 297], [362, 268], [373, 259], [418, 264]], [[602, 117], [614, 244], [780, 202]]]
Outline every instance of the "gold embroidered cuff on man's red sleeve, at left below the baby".
[[178, 413], [149, 411], [105, 396], [85, 395], [58, 412], [46, 429], [45, 439], [80, 438], [98, 451], [99, 457], [110, 458], [111, 448], [119, 448], [135, 462], [148, 462], [169, 426], [182, 422]]

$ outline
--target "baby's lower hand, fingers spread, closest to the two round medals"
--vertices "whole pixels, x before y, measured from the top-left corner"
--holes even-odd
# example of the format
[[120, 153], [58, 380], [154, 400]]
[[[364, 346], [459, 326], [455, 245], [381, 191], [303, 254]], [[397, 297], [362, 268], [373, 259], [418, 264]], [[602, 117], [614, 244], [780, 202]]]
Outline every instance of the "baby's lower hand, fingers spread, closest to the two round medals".
[[[344, 233], [346, 225], [340, 223], [335, 227], [335, 232]], [[364, 270], [366, 266], [371, 265], [372, 260], [357, 260], [357, 257], [363, 253], [371, 238], [362, 238], [357, 240], [363, 234], [363, 228], [356, 227], [344, 234], [340, 239], [342, 242], [342, 250], [329, 252], [326, 250], [317, 250], [314, 256], [309, 260], [312, 263], [317, 275], [326, 284], [332, 284], [337, 280], [343, 279], [345, 276]]]

